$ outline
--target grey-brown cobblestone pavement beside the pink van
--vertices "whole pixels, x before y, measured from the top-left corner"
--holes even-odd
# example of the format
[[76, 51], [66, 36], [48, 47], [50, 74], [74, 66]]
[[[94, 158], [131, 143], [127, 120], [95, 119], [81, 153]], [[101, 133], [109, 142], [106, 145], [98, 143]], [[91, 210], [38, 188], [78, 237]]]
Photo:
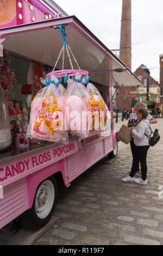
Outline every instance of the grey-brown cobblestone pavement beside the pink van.
[[[127, 121], [119, 120], [115, 129], [122, 124]], [[155, 127], [162, 135], [163, 119], [152, 125], [153, 130]], [[148, 151], [146, 186], [121, 181], [132, 162], [130, 146], [122, 142], [112, 163], [105, 158], [69, 188], [60, 186], [54, 211], [59, 220], [36, 245], [163, 245], [163, 199], [159, 199], [159, 186], [163, 185], [162, 141], [161, 136]]]

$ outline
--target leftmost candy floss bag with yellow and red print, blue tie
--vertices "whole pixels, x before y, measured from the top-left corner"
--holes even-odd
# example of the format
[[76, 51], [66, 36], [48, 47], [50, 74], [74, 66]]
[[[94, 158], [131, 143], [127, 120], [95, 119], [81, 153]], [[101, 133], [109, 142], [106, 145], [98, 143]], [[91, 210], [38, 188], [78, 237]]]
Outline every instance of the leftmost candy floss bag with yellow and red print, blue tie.
[[32, 101], [28, 137], [49, 142], [68, 143], [65, 130], [65, 96], [64, 87], [58, 89], [57, 77], [46, 79], [46, 87], [36, 94]]

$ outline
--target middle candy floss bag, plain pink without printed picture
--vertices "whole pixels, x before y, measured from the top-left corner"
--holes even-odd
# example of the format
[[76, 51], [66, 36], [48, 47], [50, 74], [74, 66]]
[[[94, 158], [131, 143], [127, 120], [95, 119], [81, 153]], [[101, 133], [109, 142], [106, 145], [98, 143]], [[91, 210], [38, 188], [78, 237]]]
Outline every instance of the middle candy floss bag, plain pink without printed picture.
[[90, 127], [89, 95], [81, 80], [78, 73], [75, 77], [68, 78], [66, 108], [69, 131], [72, 136], [84, 139], [88, 137]]

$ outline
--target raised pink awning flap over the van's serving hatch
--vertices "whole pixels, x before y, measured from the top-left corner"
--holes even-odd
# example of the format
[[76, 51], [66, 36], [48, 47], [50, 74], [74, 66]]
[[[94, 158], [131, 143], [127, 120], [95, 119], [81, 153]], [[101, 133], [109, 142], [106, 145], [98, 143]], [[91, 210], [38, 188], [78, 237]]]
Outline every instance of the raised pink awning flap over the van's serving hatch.
[[[66, 25], [66, 41], [82, 70], [91, 72], [91, 80], [104, 86], [141, 86], [142, 83], [76, 16], [0, 29], [5, 50], [28, 59], [54, 66], [62, 47], [56, 27]], [[61, 61], [57, 68], [61, 69]], [[70, 69], [65, 57], [65, 69]], [[77, 67], [74, 65], [74, 68]]]

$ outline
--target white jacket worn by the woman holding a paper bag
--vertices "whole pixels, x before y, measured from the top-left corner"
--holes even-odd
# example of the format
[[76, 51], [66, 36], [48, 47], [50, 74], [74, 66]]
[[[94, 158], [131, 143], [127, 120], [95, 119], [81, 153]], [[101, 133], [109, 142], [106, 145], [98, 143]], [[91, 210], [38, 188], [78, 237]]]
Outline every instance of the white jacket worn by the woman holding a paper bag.
[[[148, 119], [142, 120], [136, 127], [132, 130], [134, 144], [136, 146], [147, 146], [149, 145], [149, 139], [146, 135], [151, 135], [151, 129], [149, 128]], [[146, 133], [146, 135], [145, 135]]]

